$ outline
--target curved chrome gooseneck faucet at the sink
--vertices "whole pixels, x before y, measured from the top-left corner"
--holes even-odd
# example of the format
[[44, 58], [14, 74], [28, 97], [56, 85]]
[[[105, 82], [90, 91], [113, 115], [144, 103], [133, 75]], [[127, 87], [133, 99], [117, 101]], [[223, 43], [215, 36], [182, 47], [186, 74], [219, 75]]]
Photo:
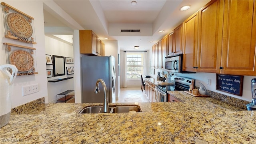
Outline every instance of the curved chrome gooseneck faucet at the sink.
[[104, 88], [104, 103], [103, 103], [103, 113], [109, 113], [109, 106], [108, 106], [108, 89], [107, 86], [102, 79], [98, 79], [95, 86], [95, 93], [98, 94], [100, 92], [99, 89], [99, 83], [101, 82], [103, 88]]

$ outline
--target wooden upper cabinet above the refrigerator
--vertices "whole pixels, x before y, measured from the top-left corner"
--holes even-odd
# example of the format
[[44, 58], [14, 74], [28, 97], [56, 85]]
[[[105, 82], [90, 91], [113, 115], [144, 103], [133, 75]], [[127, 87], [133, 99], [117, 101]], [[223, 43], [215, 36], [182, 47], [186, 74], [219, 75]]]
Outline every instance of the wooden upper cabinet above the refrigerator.
[[79, 30], [80, 54], [101, 56], [100, 40], [92, 30]]

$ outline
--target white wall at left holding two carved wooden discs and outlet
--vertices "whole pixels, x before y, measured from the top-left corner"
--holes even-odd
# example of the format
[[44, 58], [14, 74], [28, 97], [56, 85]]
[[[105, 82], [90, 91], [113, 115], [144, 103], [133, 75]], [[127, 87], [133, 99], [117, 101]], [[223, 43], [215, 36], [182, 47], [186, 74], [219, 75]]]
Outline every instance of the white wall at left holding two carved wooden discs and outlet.
[[[0, 38], [1, 38], [1, 49], [0, 49], [0, 65], [6, 64], [5, 48], [3, 43], [8, 42], [12, 44], [18, 44], [22, 46], [28, 46], [36, 48], [36, 64], [38, 74], [17, 76], [14, 80], [14, 92], [12, 96], [12, 108], [36, 100], [38, 98], [47, 98], [47, 78], [46, 78], [46, 61], [45, 61], [45, 43], [44, 43], [44, 14], [43, 14], [43, 3], [42, 1], [31, 1], [31, 0], [1, 0], [1, 2], [6, 2], [10, 6], [32, 16], [34, 18], [34, 33], [35, 41], [37, 44], [26, 44], [17, 40], [12, 40], [4, 37], [4, 21], [2, 6], [0, 12]], [[22, 96], [22, 86], [38, 84], [39, 92], [30, 94], [27, 96]]]

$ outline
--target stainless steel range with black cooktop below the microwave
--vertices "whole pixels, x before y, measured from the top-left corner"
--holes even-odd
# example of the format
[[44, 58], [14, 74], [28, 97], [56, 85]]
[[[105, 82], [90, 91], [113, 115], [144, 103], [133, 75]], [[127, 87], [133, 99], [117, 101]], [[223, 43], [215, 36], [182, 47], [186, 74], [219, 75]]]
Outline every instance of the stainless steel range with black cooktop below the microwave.
[[156, 102], [167, 102], [167, 91], [183, 91], [189, 90], [189, 85], [192, 84], [191, 78], [175, 77], [173, 85], [158, 84], [156, 90]]

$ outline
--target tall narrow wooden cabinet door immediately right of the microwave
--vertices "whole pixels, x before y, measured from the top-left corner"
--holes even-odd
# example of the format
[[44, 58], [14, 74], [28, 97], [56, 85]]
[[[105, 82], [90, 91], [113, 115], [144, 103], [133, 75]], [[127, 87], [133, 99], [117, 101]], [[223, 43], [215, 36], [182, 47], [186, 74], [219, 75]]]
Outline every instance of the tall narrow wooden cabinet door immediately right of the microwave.
[[183, 70], [196, 72], [198, 12], [184, 21]]

